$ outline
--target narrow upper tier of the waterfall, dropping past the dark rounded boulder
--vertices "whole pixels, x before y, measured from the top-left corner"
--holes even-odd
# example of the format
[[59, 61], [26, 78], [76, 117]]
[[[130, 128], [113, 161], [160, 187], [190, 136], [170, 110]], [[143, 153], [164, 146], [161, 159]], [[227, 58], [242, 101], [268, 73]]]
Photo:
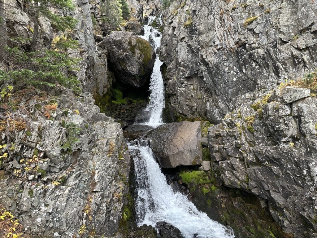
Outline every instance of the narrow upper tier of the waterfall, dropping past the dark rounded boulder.
[[[160, 24], [162, 21], [161, 16], [159, 17]], [[149, 17], [148, 24], [144, 25], [144, 35], [139, 37], [151, 41], [153, 50], [156, 51], [161, 46], [162, 33], [150, 26], [154, 19], [155, 17]], [[150, 102], [145, 109], [150, 112], [150, 118], [145, 124], [153, 127], [157, 127], [163, 123], [162, 111], [165, 107], [165, 94], [163, 77], [160, 70], [162, 64], [163, 62], [159, 60], [159, 55], [157, 54], [150, 79]]]

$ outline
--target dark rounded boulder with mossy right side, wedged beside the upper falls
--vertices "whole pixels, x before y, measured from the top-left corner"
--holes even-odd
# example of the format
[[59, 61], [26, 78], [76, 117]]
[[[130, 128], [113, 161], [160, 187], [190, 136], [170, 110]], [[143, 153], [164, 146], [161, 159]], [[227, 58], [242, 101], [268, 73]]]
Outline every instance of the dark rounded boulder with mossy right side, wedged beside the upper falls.
[[108, 66], [122, 83], [140, 88], [149, 82], [155, 52], [148, 41], [115, 31], [100, 44], [108, 50]]

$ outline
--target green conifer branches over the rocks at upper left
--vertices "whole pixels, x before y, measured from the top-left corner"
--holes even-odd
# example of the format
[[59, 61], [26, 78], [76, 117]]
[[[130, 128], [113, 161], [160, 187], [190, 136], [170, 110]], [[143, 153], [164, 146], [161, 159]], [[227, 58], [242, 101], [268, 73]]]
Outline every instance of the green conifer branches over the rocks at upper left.
[[34, 22], [31, 50], [3, 47], [7, 56], [5, 60], [10, 64], [10, 70], [7, 72], [0, 70], [0, 81], [49, 87], [60, 84], [78, 93], [80, 91], [79, 81], [73, 71], [77, 69], [75, 65], [78, 64], [79, 59], [70, 57], [66, 53], [68, 49], [77, 48], [77, 41], [61, 34], [53, 39], [50, 49], [36, 47], [41, 38], [38, 29], [40, 16], [47, 17], [57, 30], [64, 31], [74, 28], [76, 24], [74, 18], [59, 16], [49, 9], [53, 6], [64, 10], [74, 10], [73, 2], [71, 0], [37, 0], [34, 2], [28, 0], [27, 3], [25, 11], [33, 13], [32, 21]]

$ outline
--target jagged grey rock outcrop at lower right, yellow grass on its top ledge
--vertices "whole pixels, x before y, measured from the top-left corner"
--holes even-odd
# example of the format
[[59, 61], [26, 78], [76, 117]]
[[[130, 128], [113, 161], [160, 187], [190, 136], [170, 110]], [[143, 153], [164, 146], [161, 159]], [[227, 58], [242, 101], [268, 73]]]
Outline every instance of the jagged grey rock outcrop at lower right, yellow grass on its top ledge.
[[238, 103], [209, 129], [211, 167], [227, 187], [268, 201], [284, 231], [315, 237], [316, 98], [286, 87], [245, 94]]

